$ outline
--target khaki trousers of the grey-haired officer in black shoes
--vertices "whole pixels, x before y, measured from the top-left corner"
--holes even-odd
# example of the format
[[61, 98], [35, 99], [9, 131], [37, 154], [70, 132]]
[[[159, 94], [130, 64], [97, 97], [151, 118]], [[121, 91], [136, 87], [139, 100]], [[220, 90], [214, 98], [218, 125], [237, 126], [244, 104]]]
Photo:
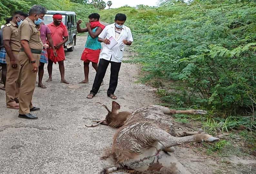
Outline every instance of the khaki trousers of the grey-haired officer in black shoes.
[[[36, 83], [36, 74], [32, 72], [33, 66], [30, 63], [29, 58], [25, 52], [19, 52], [18, 55], [20, 63], [20, 73], [21, 73], [21, 87], [19, 95], [19, 114], [28, 114], [30, 109], [33, 108], [32, 97], [35, 89]], [[40, 61], [40, 54], [33, 54], [34, 59], [36, 60], [37, 66]]]

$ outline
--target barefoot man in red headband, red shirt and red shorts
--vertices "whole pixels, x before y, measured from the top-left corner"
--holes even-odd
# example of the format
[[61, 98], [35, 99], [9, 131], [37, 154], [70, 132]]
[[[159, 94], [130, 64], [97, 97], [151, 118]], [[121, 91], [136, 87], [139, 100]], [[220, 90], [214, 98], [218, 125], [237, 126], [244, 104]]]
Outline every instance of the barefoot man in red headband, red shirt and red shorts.
[[47, 49], [48, 60], [49, 60], [47, 69], [49, 73], [49, 79], [46, 82], [52, 81], [53, 63], [56, 64], [56, 62], [58, 62], [60, 75], [61, 75], [61, 82], [69, 83], [64, 78], [65, 53], [64, 53], [63, 44], [68, 40], [68, 31], [66, 26], [62, 23], [62, 15], [59, 13], [54, 14], [53, 22], [48, 24], [47, 26], [51, 30], [51, 37], [53, 39], [53, 44], [54, 44], [57, 56], [54, 55], [54, 51], [52, 48]]

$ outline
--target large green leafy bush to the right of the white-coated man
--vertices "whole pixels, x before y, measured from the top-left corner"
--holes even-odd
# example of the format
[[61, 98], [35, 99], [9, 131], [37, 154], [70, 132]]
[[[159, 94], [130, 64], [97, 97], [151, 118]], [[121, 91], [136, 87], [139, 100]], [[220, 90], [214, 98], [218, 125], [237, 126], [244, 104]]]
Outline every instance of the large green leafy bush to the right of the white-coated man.
[[182, 81], [185, 104], [228, 115], [251, 112], [256, 101], [256, 2], [173, 2], [146, 10], [104, 10], [102, 19], [111, 21], [117, 12], [127, 15], [139, 54], [130, 62], [143, 65], [147, 80]]

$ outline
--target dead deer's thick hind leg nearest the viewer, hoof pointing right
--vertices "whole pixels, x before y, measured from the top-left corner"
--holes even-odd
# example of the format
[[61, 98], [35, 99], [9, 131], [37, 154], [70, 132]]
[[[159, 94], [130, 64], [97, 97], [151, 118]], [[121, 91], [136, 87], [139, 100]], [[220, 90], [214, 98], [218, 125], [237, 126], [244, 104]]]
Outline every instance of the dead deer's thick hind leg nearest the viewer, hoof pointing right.
[[158, 141], [165, 148], [170, 148], [172, 146], [188, 144], [192, 142], [202, 142], [202, 141], [214, 142], [219, 140], [219, 138], [215, 138], [211, 135], [204, 134], [204, 133], [184, 136], [184, 137], [175, 137], [160, 128], [155, 128], [154, 130], [151, 129], [151, 131], [152, 132], [150, 134], [150, 138], [155, 141]]

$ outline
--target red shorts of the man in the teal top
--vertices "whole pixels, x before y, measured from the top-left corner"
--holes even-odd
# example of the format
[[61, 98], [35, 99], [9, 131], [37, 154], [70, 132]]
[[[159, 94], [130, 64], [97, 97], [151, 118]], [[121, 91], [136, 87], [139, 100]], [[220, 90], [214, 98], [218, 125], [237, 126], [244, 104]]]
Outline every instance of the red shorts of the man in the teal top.
[[83, 60], [86, 63], [93, 62], [97, 64], [99, 62], [100, 52], [101, 52], [100, 49], [93, 50], [89, 48], [84, 48], [84, 51], [81, 56], [81, 60]]

